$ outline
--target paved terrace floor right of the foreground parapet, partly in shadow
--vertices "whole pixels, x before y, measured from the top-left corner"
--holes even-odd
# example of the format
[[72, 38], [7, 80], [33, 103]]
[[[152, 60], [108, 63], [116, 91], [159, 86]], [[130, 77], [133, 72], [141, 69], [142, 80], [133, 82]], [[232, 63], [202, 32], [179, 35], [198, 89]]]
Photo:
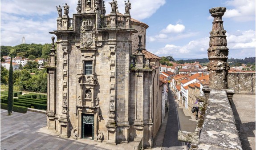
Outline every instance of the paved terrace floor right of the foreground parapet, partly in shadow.
[[243, 150], [255, 150], [255, 95], [235, 94], [232, 110]]

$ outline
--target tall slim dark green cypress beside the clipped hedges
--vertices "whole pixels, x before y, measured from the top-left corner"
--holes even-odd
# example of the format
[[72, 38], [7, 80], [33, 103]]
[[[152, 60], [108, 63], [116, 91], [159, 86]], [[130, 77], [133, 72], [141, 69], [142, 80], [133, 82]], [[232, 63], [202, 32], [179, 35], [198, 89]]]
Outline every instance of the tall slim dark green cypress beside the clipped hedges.
[[10, 69], [9, 69], [9, 79], [8, 79], [8, 116], [12, 114], [13, 108], [13, 69], [12, 69], [12, 57], [10, 62]]

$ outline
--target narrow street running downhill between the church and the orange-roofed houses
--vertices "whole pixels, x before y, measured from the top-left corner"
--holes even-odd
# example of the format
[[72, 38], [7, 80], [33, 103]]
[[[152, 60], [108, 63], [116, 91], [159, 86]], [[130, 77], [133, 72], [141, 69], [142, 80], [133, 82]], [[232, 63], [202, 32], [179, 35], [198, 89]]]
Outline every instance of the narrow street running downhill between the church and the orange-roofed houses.
[[197, 122], [184, 114], [172, 95], [173, 91], [168, 89], [169, 111], [162, 150], [187, 150], [186, 143], [178, 141], [178, 131], [194, 132]]

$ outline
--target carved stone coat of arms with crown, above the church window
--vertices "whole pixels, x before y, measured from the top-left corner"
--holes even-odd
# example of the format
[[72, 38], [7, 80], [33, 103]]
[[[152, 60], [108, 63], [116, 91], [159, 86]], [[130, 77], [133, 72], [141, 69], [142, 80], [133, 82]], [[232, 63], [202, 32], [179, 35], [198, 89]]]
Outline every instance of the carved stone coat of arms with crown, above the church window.
[[92, 20], [84, 20], [80, 29], [80, 48], [89, 48], [93, 45], [93, 28]]

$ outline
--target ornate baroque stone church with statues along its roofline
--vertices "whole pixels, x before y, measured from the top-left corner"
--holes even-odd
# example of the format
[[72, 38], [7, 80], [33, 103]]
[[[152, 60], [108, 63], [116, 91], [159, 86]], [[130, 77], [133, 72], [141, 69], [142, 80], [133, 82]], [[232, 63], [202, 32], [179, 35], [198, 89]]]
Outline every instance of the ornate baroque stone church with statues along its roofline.
[[[47, 127], [61, 138], [153, 146], [161, 125], [158, 56], [145, 50], [148, 26], [102, 0], [58, 8], [49, 55]], [[143, 139], [143, 140], [142, 140]]]

